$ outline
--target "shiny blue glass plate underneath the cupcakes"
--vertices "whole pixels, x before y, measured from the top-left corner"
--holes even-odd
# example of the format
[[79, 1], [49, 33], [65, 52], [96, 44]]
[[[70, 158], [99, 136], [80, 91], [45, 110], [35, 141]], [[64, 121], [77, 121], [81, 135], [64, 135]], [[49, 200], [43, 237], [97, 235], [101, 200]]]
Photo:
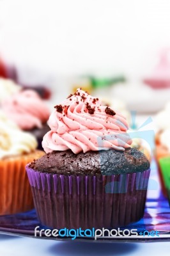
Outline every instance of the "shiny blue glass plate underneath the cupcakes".
[[[45, 228], [40, 225], [35, 209], [29, 212], [20, 214], [0, 216], [0, 233], [12, 234], [15, 236], [35, 237], [35, 227]], [[94, 240], [94, 237], [77, 237], [73, 241], [92, 241], [92, 242], [110, 242], [110, 243], [139, 243], [139, 242], [156, 242], [156, 241], [170, 241], [170, 209], [167, 198], [160, 193], [158, 182], [158, 175], [155, 163], [151, 165], [151, 177], [148, 186], [148, 196], [146, 201], [146, 208], [144, 218], [138, 222], [132, 223], [121, 229], [128, 228], [137, 229], [138, 236], [116, 236], [116, 237], [100, 237]], [[144, 231], [158, 231], [158, 236], [146, 236]], [[56, 239], [62, 241], [69, 241], [71, 237], [45, 237], [42, 234], [40, 239]]]

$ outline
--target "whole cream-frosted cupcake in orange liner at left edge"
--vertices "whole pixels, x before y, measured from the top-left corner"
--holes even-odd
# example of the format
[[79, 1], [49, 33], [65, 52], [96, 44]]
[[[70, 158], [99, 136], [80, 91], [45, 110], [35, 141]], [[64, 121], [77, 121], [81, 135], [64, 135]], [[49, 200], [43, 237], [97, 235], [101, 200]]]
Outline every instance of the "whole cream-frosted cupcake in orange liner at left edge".
[[36, 150], [33, 135], [23, 132], [0, 112], [0, 214], [13, 214], [33, 208], [26, 176], [26, 164], [43, 156]]

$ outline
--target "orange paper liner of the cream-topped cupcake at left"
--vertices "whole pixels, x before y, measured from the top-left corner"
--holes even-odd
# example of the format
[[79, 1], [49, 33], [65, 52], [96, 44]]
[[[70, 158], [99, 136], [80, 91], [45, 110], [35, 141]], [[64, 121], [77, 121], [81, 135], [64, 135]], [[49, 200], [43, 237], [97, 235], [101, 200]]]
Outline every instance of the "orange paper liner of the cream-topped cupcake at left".
[[36, 150], [23, 156], [0, 160], [0, 214], [15, 214], [34, 208], [26, 164], [38, 159], [44, 152]]

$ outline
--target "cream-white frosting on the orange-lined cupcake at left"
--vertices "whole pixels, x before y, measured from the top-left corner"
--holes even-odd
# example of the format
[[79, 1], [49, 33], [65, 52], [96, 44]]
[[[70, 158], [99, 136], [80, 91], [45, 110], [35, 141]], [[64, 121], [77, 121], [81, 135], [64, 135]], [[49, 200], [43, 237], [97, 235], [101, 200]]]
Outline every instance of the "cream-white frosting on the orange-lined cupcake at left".
[[35, 150], [37, 142], [29, 132], [23, 132], [0, 111], [0, 159]]

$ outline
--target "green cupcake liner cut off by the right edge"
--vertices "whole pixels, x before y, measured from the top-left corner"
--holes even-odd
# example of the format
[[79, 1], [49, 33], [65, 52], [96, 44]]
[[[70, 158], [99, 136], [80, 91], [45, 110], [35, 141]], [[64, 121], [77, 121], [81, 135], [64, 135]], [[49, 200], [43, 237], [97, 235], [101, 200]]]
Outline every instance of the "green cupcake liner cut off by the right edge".
[[170, 189], [170, 157], [160, 158], [159, 164], [166, 188]]

